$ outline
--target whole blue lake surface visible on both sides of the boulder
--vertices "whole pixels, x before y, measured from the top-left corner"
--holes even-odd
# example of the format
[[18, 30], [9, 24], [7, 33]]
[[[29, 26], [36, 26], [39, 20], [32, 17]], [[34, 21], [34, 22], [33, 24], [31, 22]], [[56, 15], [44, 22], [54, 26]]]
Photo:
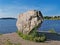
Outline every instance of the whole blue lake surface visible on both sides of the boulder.
[[[54, 29], [56, 32], [60, 33], [60, 20], [44, 20], [39, 28], [40, 31], [48, 31], [50, 29]], [[0, 19], [0, 33], [11, 33], [16, 31], [16, 20]]]

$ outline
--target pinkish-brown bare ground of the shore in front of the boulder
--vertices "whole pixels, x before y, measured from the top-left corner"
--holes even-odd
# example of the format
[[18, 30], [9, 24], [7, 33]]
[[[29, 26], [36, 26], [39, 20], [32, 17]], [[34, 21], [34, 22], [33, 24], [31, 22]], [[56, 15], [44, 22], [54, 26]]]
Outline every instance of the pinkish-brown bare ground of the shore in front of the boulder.
[[49, 40], [46, 42], [32, 42], [28, 40], [24, 40], [17, 33], [9, 33], [0, 35], [0, 45], [5, 45], [6, 41], [9, 40], [11, 43], [16, 44], [20, 43], [21, 45], [59, 45], [60, 41], [58, 40]]

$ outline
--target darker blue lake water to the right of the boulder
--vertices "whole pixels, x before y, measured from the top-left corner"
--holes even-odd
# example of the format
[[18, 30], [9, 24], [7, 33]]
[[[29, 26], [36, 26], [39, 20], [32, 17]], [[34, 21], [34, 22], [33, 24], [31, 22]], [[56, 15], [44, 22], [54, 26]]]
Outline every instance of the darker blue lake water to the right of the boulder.
[[44, 20], [39, 31], [55, 30], [60, 33], [60, 20]]

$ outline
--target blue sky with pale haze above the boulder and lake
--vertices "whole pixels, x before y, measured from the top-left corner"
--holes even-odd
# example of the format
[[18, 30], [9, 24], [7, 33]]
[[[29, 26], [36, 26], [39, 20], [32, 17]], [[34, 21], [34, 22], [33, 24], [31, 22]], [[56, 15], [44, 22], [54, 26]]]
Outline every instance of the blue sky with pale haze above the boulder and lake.
[[60, 0], [0, 0], [0, 17], [17, 17], [34, 9], [43, 16], [60, 16]]

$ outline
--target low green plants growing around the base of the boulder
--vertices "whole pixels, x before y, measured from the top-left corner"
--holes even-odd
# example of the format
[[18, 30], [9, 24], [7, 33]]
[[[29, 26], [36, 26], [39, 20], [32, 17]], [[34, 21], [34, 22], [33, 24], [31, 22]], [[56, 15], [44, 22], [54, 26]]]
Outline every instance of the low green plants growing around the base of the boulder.
[[18, 32], [18, 35], [25, 40], [35, 41], [35, 42], [44, 42], [46, 40], [46, 36], [44, 34], [38, 34], [37, 32], [33, 32], [30, 35], [23, 34]]

